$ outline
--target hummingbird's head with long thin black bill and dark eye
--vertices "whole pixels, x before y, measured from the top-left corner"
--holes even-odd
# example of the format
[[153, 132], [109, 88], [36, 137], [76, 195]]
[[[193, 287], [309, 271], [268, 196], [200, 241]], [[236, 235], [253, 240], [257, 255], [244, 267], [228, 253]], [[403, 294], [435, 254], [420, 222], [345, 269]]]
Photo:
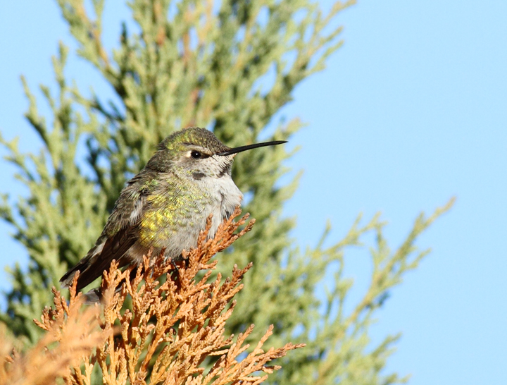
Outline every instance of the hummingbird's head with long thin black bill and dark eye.
[[280, 145], [284, 140], [230, 148], [204, 128], [191, 127], [172, 133], [158, 145], [146, 165], [160, 172], [173, 171], [200, 180], [206, 176], [230, 176], [238, 152], [256, 147]]

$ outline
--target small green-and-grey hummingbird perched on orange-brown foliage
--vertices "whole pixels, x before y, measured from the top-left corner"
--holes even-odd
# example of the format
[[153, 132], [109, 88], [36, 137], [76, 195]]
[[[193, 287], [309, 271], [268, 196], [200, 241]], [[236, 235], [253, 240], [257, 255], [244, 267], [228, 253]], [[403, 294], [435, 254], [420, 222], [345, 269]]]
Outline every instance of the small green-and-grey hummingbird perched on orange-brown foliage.
[[[208, 238], [242, 200], [231, 178], [238, 152], [280, 145], [283, 140], [230, 148], [204, 128], [187, 128], [165, 138], [156, 153], [120, 193], [94, 247], [60, 279], [68, 287], [77, 271], [77, 290], [92, 283], [115, 259], [119, 267], [142, 263], [152, 250], [173, 261], [196, 247], [213, 214]], [[98, 299], [98, 298], [97, 298]]]

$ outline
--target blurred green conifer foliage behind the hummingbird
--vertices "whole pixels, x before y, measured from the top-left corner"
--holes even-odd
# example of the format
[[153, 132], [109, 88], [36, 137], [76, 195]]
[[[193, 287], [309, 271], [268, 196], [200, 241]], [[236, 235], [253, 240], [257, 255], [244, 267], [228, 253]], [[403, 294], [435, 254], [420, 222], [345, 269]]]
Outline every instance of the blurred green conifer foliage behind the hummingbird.
[[[28, 271], [11, 269], [13, 287], [1, 320], [18, 336], [36, 341], [32, 319], [51, 303], [51, 286], [67, 267], [94, 244], [127, 178], [137, 173], [166, 135], [187, 126], [206, 127], [230, 147], [263, 140], [288, 140], [301, 127], [295, 118], [280, 123], [266, 138], [268, 123], [290, 102], [301, 80], [323, 70], [339, 47], [336, 16], [353, 1], [337, 2], [323, 14], [308, 0], [177, 1], [132, 0], [134, 30], [123, 25], [117, 49], [101, 40], [104, 0], [58, 0], [63, 18], [77, 40], [78, 54], [113, 88], [114, 100], [87, 97], [65, 79], [67, 49], [54, 59], [57, 93], [42, 87], [51, 106], [51, 123], [37, 111], [37, 102], [24, 82], [30, 102], [27, 119], [42, 139], [39, 154], [21, 154], [17, 141], [1, 138], [7, 160], [29, 195], [14, 207], [4, 196], [0, 216], [15, 228], [15, 238], [30, 257]], [[172, 11], [169, 11], [171, 7]], [[93, 15], [93, 16], [91, 16]], [[261, 85], [270, 84], [270, 87]], [[275, 122], [276, 123], [276, 122]], [[86, 151], [92, 173], [83, 170], [76, 151]], [[253, 262], [245, 277], [243, 300], [231, 319], [234, 333], [256, 324], [257, 333], [275, 324], [273, 345], [288, 338], [307, 347], [284, 357], [283, 370], [270, 377], [278, 384], [392, 384], [396, 374], [380, 371], [397, 336], [372, 346], [368, 329], [387, 291], [415, 269], [425, 252], [414, 242], [434, 219], [416, 219], [406, 241], [396, 250], [382, 236], [384, 224], [375, 216], [358, 219], [349, 233], [331, 247], [324, 240], [301, 252], [289, 238], [294, 219], [281, 215], [297, 178], [280, 186], [287, 172], [283, 146], [245, 152], [234, 161], [233, 178], [248, 193], [244, 207], [257, 220], [253, 231], [234, 244], [220, 269], [230, 271]], [[352, 312], [344, 300], [352, 281], [343, 276], [347, 247], [370, 245], [373, 274], [370, 287]], [[336, 267], [336, 268], [333, 268]], [[336, 271], [334, 286], [322, 303], [315, 288], [326, 271]], [[332, 308], [337, 312], [332, 312]], [[253, 339], [261, 336], [255, 333]]]

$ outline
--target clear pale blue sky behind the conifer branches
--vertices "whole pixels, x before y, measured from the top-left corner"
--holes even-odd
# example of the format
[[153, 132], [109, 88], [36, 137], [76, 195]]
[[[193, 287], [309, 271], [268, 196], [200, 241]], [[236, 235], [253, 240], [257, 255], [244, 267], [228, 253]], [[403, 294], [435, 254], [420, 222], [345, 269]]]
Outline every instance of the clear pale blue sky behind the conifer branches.
[[[39, 142], [23, 119], [18, 77], [53, 86], [58, 39], [75, 47], [55, 3], [0, 8], [0, 130], [20, 135], [26, 151]], [[128, 16], [120, 3], [106, 1], [109, 47]], [[359, 212], [382, 211], [395, 247], [421, 210], [457, 197], [418, 242], [432, 254], [392, 291], [372, 329], [375, 341], [403, 333], [387, 372], [412, 374], [412, 385], [507, 384], [506, 20], [500, 0], [360, 0], [339, 17], [344, 47], [283, 111], [308, 123], [290, 144], [302, 148], [289, 165], [305, 172], [285, 207], [298, 217], [301, 245], [315, 245], [327, 219], [332, 241]], [[101, 92], [75, 56], [67, 73]], [[1, 191], [22, 194], [12, 173], [0, 163]], [[9, 231], [0, 224], [0, 265], [26, 264]], [[368, 258], [350, 260], [361, 285]], [[0, 288], [8, 286], [1, 271]]]

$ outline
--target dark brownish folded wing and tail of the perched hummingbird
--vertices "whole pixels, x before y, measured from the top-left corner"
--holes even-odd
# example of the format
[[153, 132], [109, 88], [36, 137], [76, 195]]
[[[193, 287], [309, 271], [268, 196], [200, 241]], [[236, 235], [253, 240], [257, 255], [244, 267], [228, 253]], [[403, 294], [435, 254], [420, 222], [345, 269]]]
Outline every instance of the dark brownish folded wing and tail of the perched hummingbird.
[[118, 267], [130, 262], [123, 256], [139, 238], [139, 224], [147, 206], [146, 198], [151, 190], [149, 182], [154, 180], [154, 174], [154, 171], [143, 169], [127, 183], [94, 247], [61, 277], [62, 287], [70, 286], [77, 271], [80, 271], [77, 290], [81, 290], [101, 276], [113, 259], [119, 263]]

